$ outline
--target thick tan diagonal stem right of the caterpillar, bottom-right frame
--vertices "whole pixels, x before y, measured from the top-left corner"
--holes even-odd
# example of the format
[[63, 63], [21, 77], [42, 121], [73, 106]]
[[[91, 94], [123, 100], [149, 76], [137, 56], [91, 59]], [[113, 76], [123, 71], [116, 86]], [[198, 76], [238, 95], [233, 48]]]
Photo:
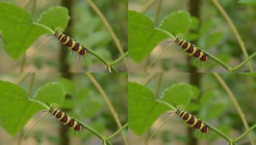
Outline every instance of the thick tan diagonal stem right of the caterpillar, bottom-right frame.
[[[229, 98], [231, 99], [231, 101], [233, 102], [233, 104], [235, 105], [235, 108], [237, 109], [242, 123], [244, 125], [244, 127], [246, 128], [246, 130], [249, 130], [249, 126], [246, 122], [246, 119], [243, 115], [243, 112], [238, 104], [238, 102], [236, 101], [236, 98], [234, 97], [234, 95], [232, 94], [231, 90], [229, 89], [229, 87], [225, 84], [224, 80], [221, 78], [221, 76], [218, 73], [212, 73], [214, 75], [214, 77], [219, 81], [219, 83], [222, 85], [222, 87], [224, 88], [224, 90], [226, 91], [226, 93], [228, 94]], [[249, 133], [249, 138], [251, 140], [251, 144], [254, 145], [254, 140], [253, 140], [253, 136], [251, 133]]]

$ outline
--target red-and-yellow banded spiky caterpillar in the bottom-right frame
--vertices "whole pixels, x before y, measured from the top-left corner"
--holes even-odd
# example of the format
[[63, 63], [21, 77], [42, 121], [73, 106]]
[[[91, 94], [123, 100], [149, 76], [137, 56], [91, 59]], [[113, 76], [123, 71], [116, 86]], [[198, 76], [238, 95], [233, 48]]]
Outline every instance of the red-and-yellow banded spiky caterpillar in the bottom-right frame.
[[[210, 128], [209, 126], [202, 122], [201, 120], [199, 120], [198, 118], [196, 118], [195, 116], [191, 115], [188, 112], [185, 112], [183, 110], [177, 109], [176, 105], [174, 104], [175, 108], [176, 108], [176, 112], [174, 112], [177, 116], [179, 116], [184, 122], [186, 122], [190, 127], [194, 127], [195, 129], [201, 131], [201, 133], [209, 133]], [[172, 114], [172, 113], [169, 113]], [[201, 135], [202, 138], [202, 135]]]

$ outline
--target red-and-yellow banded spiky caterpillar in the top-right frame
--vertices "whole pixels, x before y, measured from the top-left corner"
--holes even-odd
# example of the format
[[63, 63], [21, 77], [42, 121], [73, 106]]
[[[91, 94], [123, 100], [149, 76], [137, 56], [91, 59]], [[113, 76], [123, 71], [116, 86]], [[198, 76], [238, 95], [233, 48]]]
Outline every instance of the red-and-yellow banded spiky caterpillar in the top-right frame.
[[[174, 32], [173, 32], [173, 34], [174, 34]], [[194, 58], [197, 58], [201, 62], [202, 61], [208, 62], [209, 56], [203, 50], [196, 47], [192, 43], [185, 41], [184, 39], [177, 38], [175, 34], [174, 34], [174, 36], [175, 36], [176, 40], [170, 41], [170, 42], [175, 42], [177, 45], [179, 45], [182, 48], [182, 50], [184, 52], [188, 53], [190, 56], [193, 56]], [[170, 43], [170, 42], [167, 42], [167, 43]]]

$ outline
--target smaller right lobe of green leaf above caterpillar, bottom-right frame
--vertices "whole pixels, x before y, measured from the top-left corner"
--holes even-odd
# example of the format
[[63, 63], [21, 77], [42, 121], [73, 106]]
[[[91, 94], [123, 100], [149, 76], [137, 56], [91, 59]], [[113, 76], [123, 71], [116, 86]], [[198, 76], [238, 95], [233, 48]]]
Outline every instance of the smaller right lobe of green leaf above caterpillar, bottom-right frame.
[[184, 105], [186, 106], [193, 96], [193, 92], [190, 84], [179, 83], [168, 87], [163, 92], [161, 101], [168, 102], [170, 104]]

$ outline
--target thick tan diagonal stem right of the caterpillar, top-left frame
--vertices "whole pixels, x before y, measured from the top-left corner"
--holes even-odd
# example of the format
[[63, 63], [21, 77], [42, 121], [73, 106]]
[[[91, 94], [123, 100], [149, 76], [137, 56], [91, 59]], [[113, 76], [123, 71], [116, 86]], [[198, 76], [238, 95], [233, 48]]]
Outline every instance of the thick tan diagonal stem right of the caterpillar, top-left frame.
[[[89, 3], [89, 5], [93, 8], [93, 10], [96, 12], [96, 14], [99, 16], [99, 18], [101, 19], [101, 21], [104, 23], [104, 25], [106, 26], [106, 28], [108, 29], [108, 31], [110, 32], [110, 35], [112, 36], [112, 39], [114, 40], [114, 43], [117, 46], [117, 49], [119, 50], [121, 55], [124, 55], [124, 51], [123, 48], [121, 47], [119, 40], [117, 39], [114, 31], [112, 30], [112, 28], [110, 27], [108, 21], [106, 20], [106, 18], [104, 17], [104, 15], [99, 11], [99, 9], [97, 8], [97, 6], [94, 4], [94, 2], [92, 0], [87, 0], [87, 2]], [[123, 58], [126, 68], [128, 70], [128, 63], [126, 58]]]

